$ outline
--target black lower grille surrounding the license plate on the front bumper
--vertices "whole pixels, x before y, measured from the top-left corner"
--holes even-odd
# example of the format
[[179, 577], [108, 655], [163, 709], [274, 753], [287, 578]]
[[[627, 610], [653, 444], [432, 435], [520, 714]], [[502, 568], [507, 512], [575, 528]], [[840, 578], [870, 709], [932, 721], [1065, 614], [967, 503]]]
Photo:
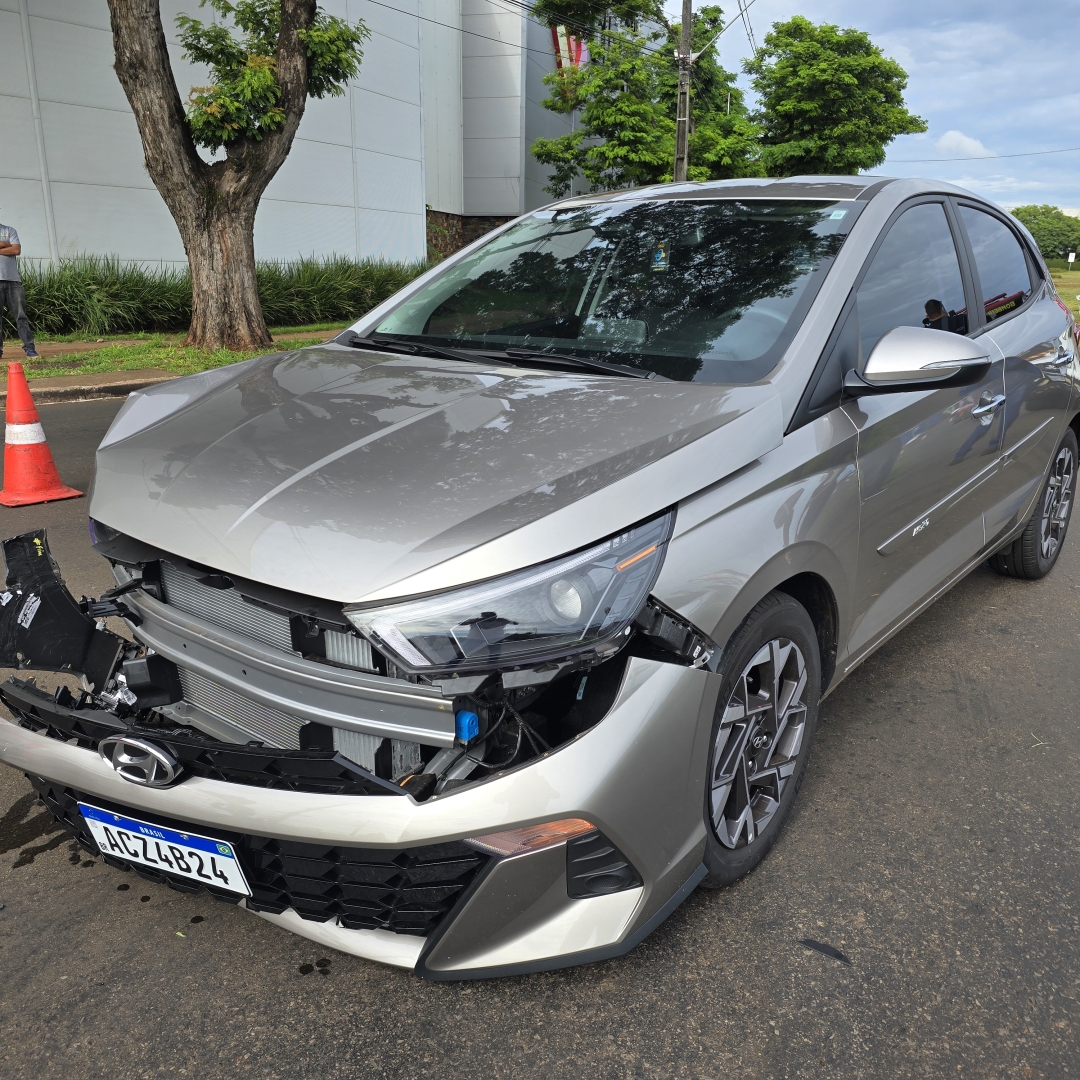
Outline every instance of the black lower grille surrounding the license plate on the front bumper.
[[[140, 877], [181, 892], [203, 888], [186, 878], [134, 866], [99, 852], [78, 804], [92, 802], [113, 813], [180, 832], [201, 833], [203, 826], [107, 802], [40, 777], [31, 775], [29, 780], [56, 820], [83, 848], [105, 862], [134, 869]], [[347, 848], [230, 834], [218, 828], [210, 832], [216, 839], [232, 843], [252, 887], [248, 907], [275, 915], [291, 907], [301, 918], [315, 922], [336, 917], [349, 930], [430, 934], [490, 859], [461, 841], [404, 849]], [[221, 900], [238, 901], [230, 893], [205, 888]]]

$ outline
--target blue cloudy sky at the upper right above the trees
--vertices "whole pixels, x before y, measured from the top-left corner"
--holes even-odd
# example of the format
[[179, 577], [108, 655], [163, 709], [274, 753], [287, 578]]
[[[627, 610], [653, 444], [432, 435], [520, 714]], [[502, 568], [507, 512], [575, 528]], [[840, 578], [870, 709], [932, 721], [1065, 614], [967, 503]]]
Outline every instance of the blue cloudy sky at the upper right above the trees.
[[[750, 44], [737, 0], [719, 2], [737, 23], [720, 58], [738, 70]], [[665, 8], [677, 17], [680, 4]], [[881, 174], [950, 180], [1007, 206], [1080, 207], [1080, 151], [1010, 157], [1080, 147], [1077, 0], [754, 0], [747, 13], [758, 44], [774, 22], [805, 15], [865, 30], [899, 60], [928, 130], [897, 138]]]

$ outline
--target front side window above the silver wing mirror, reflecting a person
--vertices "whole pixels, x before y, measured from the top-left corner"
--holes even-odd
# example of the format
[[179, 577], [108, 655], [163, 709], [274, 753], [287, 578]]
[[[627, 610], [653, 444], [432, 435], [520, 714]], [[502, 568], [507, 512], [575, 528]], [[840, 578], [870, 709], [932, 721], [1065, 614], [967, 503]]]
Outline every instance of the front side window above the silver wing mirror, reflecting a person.
[[968, 333], [960, 262], [941, 203], [921, 203], [896, 219], [856, 299], [860, 369], [874, 346], [897, 326]]

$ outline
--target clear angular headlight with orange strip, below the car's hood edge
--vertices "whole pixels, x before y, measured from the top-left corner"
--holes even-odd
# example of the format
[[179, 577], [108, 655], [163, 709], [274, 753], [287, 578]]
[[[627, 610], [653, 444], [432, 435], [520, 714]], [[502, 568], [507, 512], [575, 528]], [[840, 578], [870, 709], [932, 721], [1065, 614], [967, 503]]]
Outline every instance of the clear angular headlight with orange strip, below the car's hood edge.
[[674, 521], [667, 511], [585, 551], [492, 581], [345, 613], [414, 674], [561, 660], [626, 633], [660, 572]]

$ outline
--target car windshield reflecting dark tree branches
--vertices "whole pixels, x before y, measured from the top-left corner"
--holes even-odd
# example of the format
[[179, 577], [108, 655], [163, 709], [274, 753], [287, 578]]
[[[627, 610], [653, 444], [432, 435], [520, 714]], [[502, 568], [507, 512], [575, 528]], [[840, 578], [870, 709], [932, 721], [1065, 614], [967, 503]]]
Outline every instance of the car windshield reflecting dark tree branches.
[[753, 382], [780, 359], [859, 208], [724, 200], [542, 211], [449, 267], [374, 333]]

